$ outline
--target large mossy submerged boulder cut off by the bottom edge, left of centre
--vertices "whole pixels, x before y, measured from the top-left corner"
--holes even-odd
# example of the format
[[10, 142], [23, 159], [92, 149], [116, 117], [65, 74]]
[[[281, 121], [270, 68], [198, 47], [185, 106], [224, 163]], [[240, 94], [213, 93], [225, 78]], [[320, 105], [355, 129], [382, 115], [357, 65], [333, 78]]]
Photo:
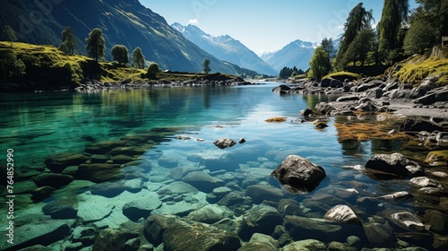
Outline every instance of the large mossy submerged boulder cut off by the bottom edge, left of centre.
[[241, 247], [237, 235], [199, 222], [176, 221], [165, 229], [162, 239], [167, 251], [237, 250]]

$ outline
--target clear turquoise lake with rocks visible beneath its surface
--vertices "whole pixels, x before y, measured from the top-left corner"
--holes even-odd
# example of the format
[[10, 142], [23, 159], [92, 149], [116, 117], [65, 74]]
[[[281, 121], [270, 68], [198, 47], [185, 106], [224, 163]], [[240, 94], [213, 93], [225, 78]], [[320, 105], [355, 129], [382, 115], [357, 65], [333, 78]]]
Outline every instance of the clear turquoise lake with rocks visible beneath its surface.
[[[362, 247], [397, 247], [398, 243], [400, 247], [420, 246], [431, 249], [435, 232], [394, 226], [392, 222], [386, 222], [384, 213], [392, 209], [405, 210], [423, 219], [426, 210], [439, 210], [439, 201], [435, 199], [438, 195], [408, 198], [397, 202], [363, 199], [400, 191], [410, 192], [414, 189], [405, 179], [378, 179], [363, 170], [372, 154], [401, 151], [402, 142], [376, 140], [340, 143], [338, 131], [333, 124], [336, 120], [342, 121], [346, 118], [328, 117], [328, 127], [315, 129], [311, 122], [303, 123], [299, 114], [302, 109], [314, 108], [318, 102], [335, 100], [337, 97], [273, 93], [271, 89], [279, 84], [261, 82], [249, 86], [201, 86], [90, 93], [0, 93], [0, 109], [3, 114], [0, 118], [0, 149], [3, 151], [0, 165], [6, 165], [7, 150], [12, 149], [16, 172], [13, 176], [15, 237], [26, 238], [21, 237], [21, 230], [30, 229], [30, 226], [34, 225], [30, 215], [34, 215], [34, 218], [44, 217], [44, 212], [57, 220], [44, 217], [41, 222], [64, 221], [71, 229], [68, 231], [81, 227], [97, 230], [107, 227], [119, 228], [125, 221], [142, 222], [141, 218], [146, 219], [154, 213], [171, 213], [185, 217], [208, 204], [222, 204], [219, 203], [220, 199], [230, 192], [245, 195], [248, 186], [266, 185], [280, 189], [282, 199], [297, 202], [297, 210], [300, 212], [281, 212], [283, 218], [288, 214], [296, 215], [300, 217], [297, 221], [307, 222], [305, 218], [321, 224], [319, 219], [323, 219], [323, 214], [328, 209], [344, 203], [349, 205], [363, 222], [371, 224], [372, 231], [377, 230], [379, 233], [391, 229], [393, 233], [392, 236], [372, 240], [368, 234], [366, 237], [357, 232], [359, 229], [356, 228], [353, 231], [353, 228], [342, 227], [333, 236], [333, 233], [325, 232], [324, 229], [311, 228], [308, 229], [310, 234], [303, 236], [297, 234], [297, 229], [287, 229], [291, 239], [315, 238], [328, 245], [331, 241], [346, 243], [347, 237], [358, 234], [358, 238], [364, 243]], [[283, 123], [265, 122], [271, 117], [287, 119]], [[244, 138], [246, 142], [221, 150], [213, 144], [220, 138], [229, 138], [235, 142]], [[115, 153], [111, 154], [112, 152]], [[81, 162], [71, 159], [70, 161], [74, 162], [70, 162], [66, 159], [72, 157], [61, 155], [65, 153], [68, 153], [69, 157], [82, 155], [78, 156], [78, 159], [84, 159]], [[404, 153], [407, 156], [414, 154], [409, 151]], [[281, 188], [280, 183], [269, 175], [291, 154], [311, 160], [322, 166], [326, 172], [327, 177], [323, 182], [306, 195], [289, 195]], [[67, 157], [64, 159], [66, 165], [61, 163], [63, 160], [57, 162], [59, 157], [51, 159], [54, 156]], [[81, 171], [82, 165], [91, 168], [95, 163], [108, 165], [110, 169], [114, 169], [113, 165], [116, 163], [121, 166], [117, 168], [117, 173], [113, 174], [116, 178], [104, 180], [101, 179], [105, 177], [101, 177], [102, 173]], [[100, 166], [103, 167], [106, 166]], [[228, 192], [220, 194], [213, 190], [217, 187], [194, 181], [189, 184], [193, 184], [193, 188], [198, 191], [185, 191], [186, 188], [193, 189], [184, 186], [185, 177], [190, 171], [205, 172], [208, 177], [220, 180], [220, 189]], [[47, 186], [55, 182], [54, 179], [47, 180], [51, 178], [36, 177], [41, 173], [59, 172], [65, 175], [61, 177], [61, 182], [65, 182], [63, 180], [68, 177], [73, 179], [66, 181], [66, 186], [56, 190], [50, 189], [49, 192], [39, 191], [36, 195], [36, 184]], [[110, 175], [108, 173], [107, 177], [111, 177]], [[107, 182], [110, 187], [106, 189], [108, 191], [98, 187], [106, 184], [103, 182]], [[133, 182], [137, 186], [134, 186]], [[211, 181], [211, 184], [213, 182]], [[174, 187], [173, 184], [178, 186], [181, 183], [180, 192], [168, 191], [169, 186]], [[4, 181], [1, 184], [6, 185]], [[96, 188], [94, 190], [91, 187]], [[122, 190], [114, 192], [120, 187]], [[2, 195], [6, 200], [6, 189], [3, 189]], [[51, 202], [63, 202], [62, 200], [67, 198], [71, 200], [67, 207], [74, 210], [73, 215], [65, 215], [65, 212], [56, 214], [55, 211], [47, 210], [49, 206], [45, 207]], [[254, 205], [262, 203], [257, 202], [257, 198], [252, 199], [251, 203], [229, 204], [231, 213], [226, 217], [247, 217], [245, 213], [252, 210]], [[139, 200], [159, 203], [147, 205], [146, 208], [154, 207], [151, 211], [136, 211], [135, 215], [132, 212], [131, 215], [130, 212], [124, 212], [124, 207], [129, 207], [126, 203]], [[274, 208], [278, 205], [275, 202], [265, 204]], [[1, 208], [2, 212], [8, 210], [4, 203]], [[73, 213], [73, 210], [66, 212]], [[91, 211], [99, 211], [100, 215], [104, 215], [95, 218], [89, 214]], [[8, 226], [5, 215], [4, 213], [0, 220], [2, 229]], [[380, 227], [374, 229], [376, 224]], [[339, 227], [337, 224], [336, 226]], [[273, 229], [266, 228], [252, 231], [266, 234], [273, 232]], [[51, 229], [51, 226], [47, 229]], [[360, 230], [362, 232], [363, 228]], [[245, 235], [238, 233], [240, 237]], [[436, 232], [436, 235], [439, 233]], [[73, 240], [70, 236], [53, 238], [51, 241], [39, 237], [35, 239], [39, 239], [37, 243], [40, 241], [50, 245], [51, 249], [65, 247], [66, 239], [73, 243], [81, 242], [84, 247], [93, 244]], [[52, 243], [54, 241], [56, 243]], [[35, 244], [32, 239], [24, 242], [21, 247], [31, 244]], [[349, 243], [346, 243], [347, 245]], [[4, 246], [4, 243], [2, 247], [13, 248]]]

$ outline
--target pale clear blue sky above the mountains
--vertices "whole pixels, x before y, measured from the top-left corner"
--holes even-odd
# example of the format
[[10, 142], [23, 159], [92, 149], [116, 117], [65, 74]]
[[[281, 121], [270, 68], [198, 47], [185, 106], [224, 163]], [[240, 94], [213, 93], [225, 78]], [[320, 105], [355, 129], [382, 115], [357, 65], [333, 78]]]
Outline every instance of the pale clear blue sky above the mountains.
[[[320, 42], [343, 32], [353, 0], [140, 0], [169, 24], [194, 23], [213, 36], [230, 35], [255, 53], [271, 52], [301, 39]], [[383, 0], [363, 1], [379, 22]], [[415, 0], [409, 0], [415, 8]]]

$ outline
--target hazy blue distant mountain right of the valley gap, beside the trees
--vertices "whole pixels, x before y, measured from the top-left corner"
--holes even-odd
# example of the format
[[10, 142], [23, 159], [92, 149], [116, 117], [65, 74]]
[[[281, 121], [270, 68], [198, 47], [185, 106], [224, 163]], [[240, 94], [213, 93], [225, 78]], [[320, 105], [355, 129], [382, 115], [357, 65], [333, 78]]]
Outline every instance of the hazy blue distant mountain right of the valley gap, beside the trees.
[[278, 72], [285, 66], [296, 66], [298, 69], [306, 71], [316, 47], [316, 43], [297, 39], [276, 52], [265, 52], [261, 57]]

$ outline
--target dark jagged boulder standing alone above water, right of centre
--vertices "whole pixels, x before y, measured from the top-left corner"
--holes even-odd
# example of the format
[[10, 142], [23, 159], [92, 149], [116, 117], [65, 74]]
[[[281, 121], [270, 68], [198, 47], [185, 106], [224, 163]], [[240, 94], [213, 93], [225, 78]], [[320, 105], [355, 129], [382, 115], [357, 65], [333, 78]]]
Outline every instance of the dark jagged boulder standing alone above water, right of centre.
[[297, 155], [289, 155], [275, 169], [271, 176], [279, 179], [281, 185], [292, 194], [311, 192], [319, 186], [324, 177], [325, 170], [310, 160]]

